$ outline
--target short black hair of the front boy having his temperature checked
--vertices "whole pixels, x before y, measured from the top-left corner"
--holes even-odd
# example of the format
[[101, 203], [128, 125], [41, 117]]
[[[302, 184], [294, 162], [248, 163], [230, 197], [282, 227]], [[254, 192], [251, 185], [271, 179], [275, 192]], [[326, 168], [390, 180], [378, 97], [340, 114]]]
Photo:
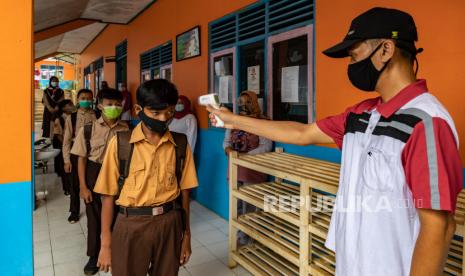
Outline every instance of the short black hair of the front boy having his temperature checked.
[[161, 110], [176, 105], [178, 89], [165, 79], [149, 80], [139, 86], [136, 98], [141, 107]]

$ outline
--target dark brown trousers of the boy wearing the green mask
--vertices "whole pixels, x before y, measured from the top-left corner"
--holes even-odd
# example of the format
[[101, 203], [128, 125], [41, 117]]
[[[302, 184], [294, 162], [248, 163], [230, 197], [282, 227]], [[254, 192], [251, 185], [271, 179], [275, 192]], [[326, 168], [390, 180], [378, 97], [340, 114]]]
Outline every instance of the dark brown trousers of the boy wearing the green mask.
[[102, 201], [100, 195], [94, 193], [94, 187], [101, 167], [101, 164], [87, 160], [86, 184], [87, 188], [92, 192], [92, 202], [86, 203], [87, 256], [89, 257], [98, 257], [100, 252]]

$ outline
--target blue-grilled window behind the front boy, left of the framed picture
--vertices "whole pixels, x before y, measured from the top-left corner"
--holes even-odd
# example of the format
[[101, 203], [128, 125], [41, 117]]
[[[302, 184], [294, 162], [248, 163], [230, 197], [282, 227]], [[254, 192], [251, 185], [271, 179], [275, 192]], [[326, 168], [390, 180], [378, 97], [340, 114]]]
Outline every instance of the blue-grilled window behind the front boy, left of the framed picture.
[[171, 80], [173, 43], [171, 41], [152, 48], [140, 55], [141, 83], [151, 79]]

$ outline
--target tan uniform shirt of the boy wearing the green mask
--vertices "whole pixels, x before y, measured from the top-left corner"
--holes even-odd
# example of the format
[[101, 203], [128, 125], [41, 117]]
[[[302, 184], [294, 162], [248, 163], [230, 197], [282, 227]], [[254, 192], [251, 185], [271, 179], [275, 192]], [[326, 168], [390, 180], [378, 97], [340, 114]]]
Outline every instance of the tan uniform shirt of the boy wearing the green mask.
[[108, 126], [103, 120], [103, 117], [97, 119], [92, 123], [92, 135], [90, 138], [90, 151], [87, 153], [86, 139], [84, 136], [84, 128], [80, 128], [76, 139], [74, 139], [74, 145], [71, 149], [71, 154], [87, 157], [90, 161], [102, 164], [103, 157], [108, 142], [113, 138], [118, 131], [129, 130], [126, 122], [119, 120], [112, 126]]

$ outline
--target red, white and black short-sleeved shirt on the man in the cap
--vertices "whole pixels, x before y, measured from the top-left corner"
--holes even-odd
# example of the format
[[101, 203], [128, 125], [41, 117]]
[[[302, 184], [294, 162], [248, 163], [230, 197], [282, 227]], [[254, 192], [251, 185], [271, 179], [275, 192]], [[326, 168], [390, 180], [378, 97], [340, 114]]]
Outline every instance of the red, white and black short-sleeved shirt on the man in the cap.
[[317, 122], [342, 149], [326, 240], [339, 276], [409, 275], [417, 209], [455, 211], [463, 184], [459, 139], [427, 91], [420, 80], [388, 102], [369, 99]]

